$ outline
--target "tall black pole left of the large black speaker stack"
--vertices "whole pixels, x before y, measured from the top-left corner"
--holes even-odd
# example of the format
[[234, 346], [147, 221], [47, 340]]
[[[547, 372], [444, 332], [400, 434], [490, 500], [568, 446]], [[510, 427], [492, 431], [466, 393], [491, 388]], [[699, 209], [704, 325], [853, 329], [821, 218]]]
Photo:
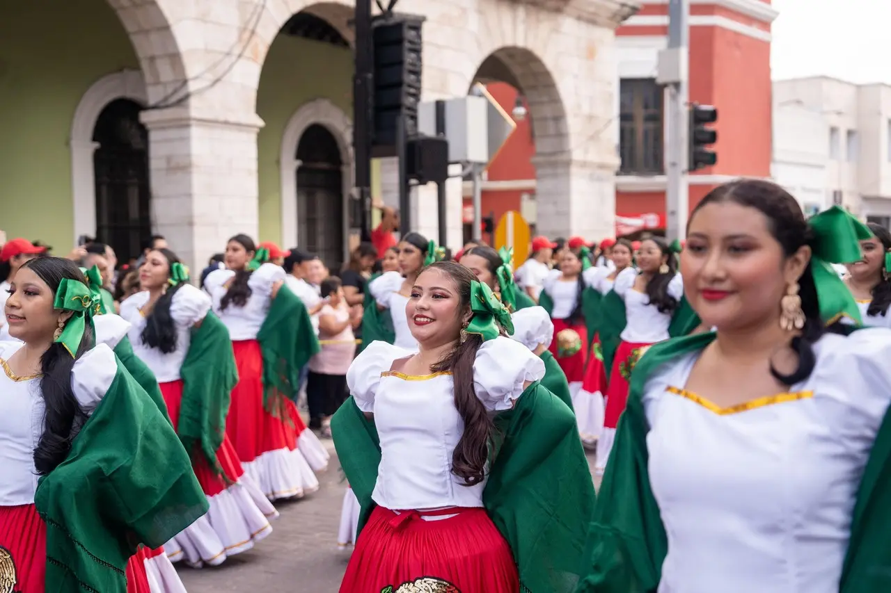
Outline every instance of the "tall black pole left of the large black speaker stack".
[[356, 53], [353, 56], [353, 156], [362, 240], [372, 240], [372, 0], [356, 0]]

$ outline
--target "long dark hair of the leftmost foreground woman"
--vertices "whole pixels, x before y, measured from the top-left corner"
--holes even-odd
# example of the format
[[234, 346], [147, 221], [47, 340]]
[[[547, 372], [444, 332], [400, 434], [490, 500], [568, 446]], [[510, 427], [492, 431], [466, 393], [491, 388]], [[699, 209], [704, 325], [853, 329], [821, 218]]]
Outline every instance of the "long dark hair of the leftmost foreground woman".
[[[86, 278], [78, 265], [63, 257], [37, 257], [21, 267], [37, 274], [37, 278], [46, 283], [53, 295], [62, 280], [78, 280], [86, 284]], [[40, 392], [43, 394], [46, 410], [44, 432], [34, 449], [34, 467], [39, 475], [49, 474], [68, 457], [71, 443], [86, 420], [86, 414], [81, 410], [71, 389], [71, 370], [74, 369], [74, 361], [93, 345], [93, 328], [87, 323], [74, 358], [65, 346], [56, 342], [40, 357]]]

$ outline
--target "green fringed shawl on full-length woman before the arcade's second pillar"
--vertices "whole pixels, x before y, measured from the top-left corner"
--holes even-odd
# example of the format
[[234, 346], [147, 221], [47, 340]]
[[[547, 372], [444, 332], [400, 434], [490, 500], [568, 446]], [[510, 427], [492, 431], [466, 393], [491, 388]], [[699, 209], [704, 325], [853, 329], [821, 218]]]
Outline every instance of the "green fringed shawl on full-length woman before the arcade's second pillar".
[[276, 418], [289, 419], [282, 398], [294, 400], [303, 366], [321, 350], [307, 307], [282, 284], [257, 332], [263, 353], [263, 403]]

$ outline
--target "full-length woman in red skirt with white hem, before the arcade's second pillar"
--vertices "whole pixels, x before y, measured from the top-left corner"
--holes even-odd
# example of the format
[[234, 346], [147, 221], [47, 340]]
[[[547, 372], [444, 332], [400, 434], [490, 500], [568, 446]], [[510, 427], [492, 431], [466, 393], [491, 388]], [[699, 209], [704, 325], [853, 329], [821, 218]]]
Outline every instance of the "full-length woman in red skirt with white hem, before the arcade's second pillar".
[[282, 289], [284, 270], [266, 258], [247, 235], [235, 235], [225, 248], [227, 269], [210, 272], [204, 286], [229, 329], [238, 368], [226, 435], [245, 473], [276, 500], [318, 490], [313, 470], [327, 467], [328, 452], [293, 401], [318, 340], [307, 308]]

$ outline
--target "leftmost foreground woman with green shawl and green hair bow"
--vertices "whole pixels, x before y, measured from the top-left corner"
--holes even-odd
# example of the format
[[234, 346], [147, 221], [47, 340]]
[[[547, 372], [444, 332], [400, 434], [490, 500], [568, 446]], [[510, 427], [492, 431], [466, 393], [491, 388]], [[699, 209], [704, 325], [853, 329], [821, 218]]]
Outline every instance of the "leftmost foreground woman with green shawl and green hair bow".
[[11, 284], [5, 318], [20, 341], [0, 343], [4, 591], [175, 590], [157, 587], [169, 575], [131, 575], [141, 566], [127, 560], [208, 508], [168, 420], [110, 347], [94, 346], [96, 305], [59, 257], [22, 264]]

